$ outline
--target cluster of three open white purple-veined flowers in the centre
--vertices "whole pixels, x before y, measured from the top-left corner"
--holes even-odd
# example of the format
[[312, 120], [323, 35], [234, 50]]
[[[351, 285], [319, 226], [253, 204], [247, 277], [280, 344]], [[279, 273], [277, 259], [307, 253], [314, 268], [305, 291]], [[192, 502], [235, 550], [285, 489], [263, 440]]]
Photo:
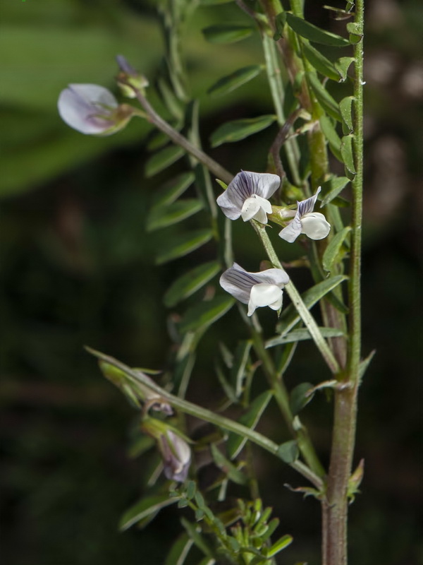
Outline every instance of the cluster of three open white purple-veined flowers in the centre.
[[[267, 214], [272, 213], [269, 198], [280, 184], [281, 179], [276, 174], [241, 171], [217, 198], [217, 203], [223, 214], [231, 220], [241, 217], [244, 222], [257, 220], [266, 224]], [[311, 239], [323, 239], [329, 234], [329, 222], [326, 222], [323, 214], [313, 211], [319, 192], [320, 188], [311, 198], [297, 203], [296, 212], [291, 214], [293, 219], [279, 232], [282, 239], [292, 243], [300, 234], [306, 234]], [[237, 263], [233, 263], [220, 279], [224, 290], [243, 304], [248, 304], [248, 316], [252, 316], [258, 307], [281, 309], [283, 287], [288, 283], [289, 277], [282, 269], [248, 273]]]

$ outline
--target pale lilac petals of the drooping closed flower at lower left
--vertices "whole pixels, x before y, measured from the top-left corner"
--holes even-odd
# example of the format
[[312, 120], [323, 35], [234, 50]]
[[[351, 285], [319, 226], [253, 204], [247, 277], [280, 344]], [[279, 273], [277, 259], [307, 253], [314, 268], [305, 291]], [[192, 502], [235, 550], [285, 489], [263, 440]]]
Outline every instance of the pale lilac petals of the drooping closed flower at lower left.
[[166, 478], [184, 482], [191, 463], [191, 448], [178, 434], [168, 429], [157, 439]]

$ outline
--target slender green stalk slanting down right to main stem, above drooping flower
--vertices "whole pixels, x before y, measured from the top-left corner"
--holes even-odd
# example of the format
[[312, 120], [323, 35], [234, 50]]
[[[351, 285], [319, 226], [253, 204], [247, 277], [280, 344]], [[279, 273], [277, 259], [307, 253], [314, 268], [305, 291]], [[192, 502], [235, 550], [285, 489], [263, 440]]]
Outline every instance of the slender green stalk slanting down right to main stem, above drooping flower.
[[[195, 416], [197, 418], [200, 418], [201, 420], [204, 420], [205, 422], [210, 422], [215, 426], [228, 430], [228, 432], [234, 432], [235, 434], [246, 437], [254, 444], [257, 444], [258, 446], [266, 449], [266, 451], [269, 451], [270, 453], [273, 453], [273, 455], [278, 456], [278, 444], [276, 444], [274, 441], [264, 436], [263, 434], [255, 432], [254, 429], [243, 426], [243, 424], [239, 424], [238, 422], [235, 422], [230, 418], [216, 414], [216, 412], [212, 412], [212, 410], [207, 410], [207, 408], [202, 408], [201, 406], [190, 403], [188, 402], [188, 400], [174, 396], [172, 393], [169, 393], [164, 388], [161, 388], [156, 383], [152, 382], [151, 379], [146, 379], [141, 371], [130, 369], [130, 367], [128, 367], [124, 363], [121, 363], [120, 361], [118, 361], [118, 359], [115, 359], [110, 355], [104, 355], [104, 353], [93, 350], [91, 347], [85, 347], [85, 349], [89, 353], [94, 355], [94, 357], [97, 357], [97, 359], [101, 359], [102, 361], [113, 365], [113, 367], [120, 369], [133, 383], [141, 383], [142, 386], [145, 386], [149, 388], [149, 390], [159, 394], [161, 398], [164, 398], [164, 400], [167, 400], [169, 404], [175, 406], [182, 412], [185, 412], [185, 414]], [[290, 463], [290, 466], [300, 472], [301, 475], [306, 477], [318, 489], [321, 489], [323, 487], [323, 482], [320, 477], [315, 475], [314, 472], [312, 472], [312, 470], [307, 467], [307, 465], [304, 465], [304, 463], [295, 461], [294, 463]]]

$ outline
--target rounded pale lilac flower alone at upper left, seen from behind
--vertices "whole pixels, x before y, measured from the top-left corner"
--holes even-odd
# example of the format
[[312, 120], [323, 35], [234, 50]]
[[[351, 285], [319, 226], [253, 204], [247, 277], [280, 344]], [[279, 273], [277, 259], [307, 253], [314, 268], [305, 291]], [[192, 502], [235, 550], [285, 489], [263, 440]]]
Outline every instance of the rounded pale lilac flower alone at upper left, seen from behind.
[[61, 119], [87, 135], [109, 136], [122, 129], [133, 115], [133, 108], [118, 105], [114, 95], [97, 84], [71, 84], [59, 95]]

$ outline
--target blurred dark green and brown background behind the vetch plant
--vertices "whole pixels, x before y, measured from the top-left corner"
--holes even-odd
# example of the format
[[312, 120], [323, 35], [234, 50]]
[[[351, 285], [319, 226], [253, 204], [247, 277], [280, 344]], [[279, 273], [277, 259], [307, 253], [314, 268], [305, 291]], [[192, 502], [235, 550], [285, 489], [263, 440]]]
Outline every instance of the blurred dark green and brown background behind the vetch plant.
[[[119, 516], [145, 487], [147, 463], [128, 458], [135, 412], [102, 378], [82, 346], [128, 364], [164, 367], [170, 340], [161, 297], [190, 262], [200, 256], [212, 259], [213, 250], [204, 246], [197, 255], [154, 267], [157, 239], [145, 232], [147, 210], [154, 190], [183, 171], [183, 162], [145, 179], [145, 145], [151, 135], [146, 123], [134, 120], [116, 136], [92, 138], [69, 129], [56, 112], [59, 92], [68, 83], [99, 83], [115, 90], [118, 53], [154, 84], [163, 55], [154, 4], [2, 1], [0, 479], [5, 564], [159, 565], [178, 533], [175, 509], [163, 511], [142, 532], [117, 532]], [[306, 2], [310, 20], [338, 31], [339, 23], [329, 18], [323, 4]], [[423, 9], [420, 0], [366, 4], [363, 351], [367, 355], [376, 348], [376, 357], [360, 398], [357, 458], [365, 458], [366, 471], [362, 495], [350, 513], [351, 562], [417, 565], [423, 563], [417, 523], [423, 502], [418, 456], [422, 342], [420, 350], [417, 342], [422, 336]], [[229, 46], [205, 42], [201, 29], [222, 18], [247, 21], [234, 4], [204, 6], [183, 42], [192, 96], [200, 98], [206, 148], [218, 124], [272, 112], [264, 76], [226, 97], [207, 95], [221, 76], [262, 62], [254, 36]], [[232, 172], [264, 170], [274, 134], [267, 129], [211, 153]], [[198, 220], [189, 221], [198, 225]], [[164, 233], [160, 237], [174, 232]], [[259, 245], [245, 225], [235, 227], [235, 238], [238, 260], [255, 270], [262, 258]], [[300, 251], [292, 249], [293, 256]], [[306, 273], [298, 270], [295, 276], [300, 287], [309, 285]], [[203, 360], [190, 398], [213, 404], [209, 398], [219, 384], [208, 360], [218, 338], [233, 340], [235, 323], [231, 313], [201, 343]], [[325, 377], [313, 347], [300, 347], [302, 354], [287, 374], [289, 388], [298, 379], [318, 382]], [[304, 416], [323, 458], [330, 410], [321, 396]], [[271, 411], [265, 425], [269, 434], [281, 434], [273, 429]], [[284, 489], [285, 482], [298, 484], [288, 468], [259, 451], [255, 456], [264, 504], [274, 506], [283, 533], [295, 537], [281, 563], [318, 563], [318, 505]]]

